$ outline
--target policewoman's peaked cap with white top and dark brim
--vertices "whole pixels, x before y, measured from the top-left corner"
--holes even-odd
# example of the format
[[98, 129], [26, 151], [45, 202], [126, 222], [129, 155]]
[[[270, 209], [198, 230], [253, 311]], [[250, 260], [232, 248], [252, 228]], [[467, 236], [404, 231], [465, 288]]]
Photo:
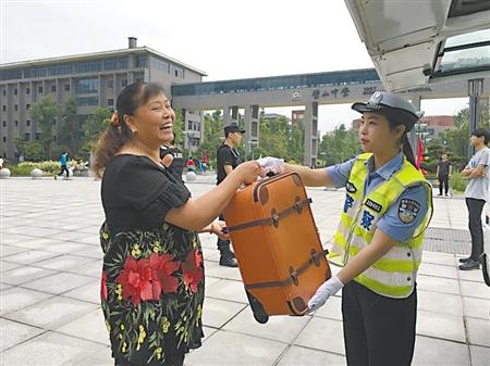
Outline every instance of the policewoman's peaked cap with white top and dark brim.
[[359, 113], [381, 114], [394, 126], [405, 125], [406, 131], [414, 127], [421, 114], [414, 104], [388, 91], [376, 91], [367, 103], [357, 102], [351, 108]]

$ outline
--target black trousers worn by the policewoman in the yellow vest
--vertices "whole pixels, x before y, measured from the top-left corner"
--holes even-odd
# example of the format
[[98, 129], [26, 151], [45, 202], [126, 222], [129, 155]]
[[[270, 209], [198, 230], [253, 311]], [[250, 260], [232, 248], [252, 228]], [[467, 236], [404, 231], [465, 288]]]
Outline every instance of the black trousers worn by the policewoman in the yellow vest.
[[416, 289], [406, 299], [391, 299], [351, 281], [342, 290], [342, 316], [348, 366], [411, 365]]

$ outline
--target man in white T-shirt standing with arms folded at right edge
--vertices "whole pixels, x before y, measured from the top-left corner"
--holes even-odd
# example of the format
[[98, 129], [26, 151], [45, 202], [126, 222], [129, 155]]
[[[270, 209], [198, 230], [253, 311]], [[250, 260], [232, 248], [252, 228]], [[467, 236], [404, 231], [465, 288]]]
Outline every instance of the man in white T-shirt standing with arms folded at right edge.
[[469, 143], [475, 148], [475, 154], [461, 175], [468, 180], [465, 197], [468, 207], [468, 227], [471, 235], [471, 254], [461, 258], [460, 269], [469, 270], [480, 267], [479, 258], [483, 252], [483, 229], [481, 226], [481, 212], [488, 202], [489, 194], [489, 164], [490, 149], [487, 147], [490, 132], [485, 128], [477, 128], [471, 132]]

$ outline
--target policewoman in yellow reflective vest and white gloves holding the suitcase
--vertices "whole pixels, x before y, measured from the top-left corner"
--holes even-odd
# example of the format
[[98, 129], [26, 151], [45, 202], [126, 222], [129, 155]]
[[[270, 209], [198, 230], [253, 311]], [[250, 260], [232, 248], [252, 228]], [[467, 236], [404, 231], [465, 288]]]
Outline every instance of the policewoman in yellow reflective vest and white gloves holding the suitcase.
[[296, 172], [306, 186], [345, 187], [345, 201], [329, 261], [343, 268], [308, 302], [310, 311], [342, 290], [347, 365], [409, 365], [417, 318], [416, 277], [432, 191], [416, 169], [407, 139], [418, 121], [408, 101], [375, 92], [362, 113], [364, 153], [321, 169], [265, 157], [273, 173]]

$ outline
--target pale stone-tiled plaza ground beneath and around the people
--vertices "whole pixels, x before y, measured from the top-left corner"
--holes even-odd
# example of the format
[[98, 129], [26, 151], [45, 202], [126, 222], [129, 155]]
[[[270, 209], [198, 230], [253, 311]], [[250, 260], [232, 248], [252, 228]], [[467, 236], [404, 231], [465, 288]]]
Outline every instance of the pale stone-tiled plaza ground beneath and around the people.
[[[213, 176], [188, 187], [199, 197]], [[144, 189], [142, 187], [142, 189]], [[103, 220], [100, 181], [0, 180], [0, 364], [113, 365], [99, 305]], [[308, 189], [323, 242], [334, 232], [344, 192]], [[193, 365], [345, 365], [341, 294], [314, 315], [252, 316], [236, 268], [218, 265], [216, 237], [200, 235], [206, 264], [206, 339]], [[462, 198], [434, 198], [418, 276], [413, 365], [490, 365], [490, 288], [481, 272], [460, 272], [469, 252]]]

